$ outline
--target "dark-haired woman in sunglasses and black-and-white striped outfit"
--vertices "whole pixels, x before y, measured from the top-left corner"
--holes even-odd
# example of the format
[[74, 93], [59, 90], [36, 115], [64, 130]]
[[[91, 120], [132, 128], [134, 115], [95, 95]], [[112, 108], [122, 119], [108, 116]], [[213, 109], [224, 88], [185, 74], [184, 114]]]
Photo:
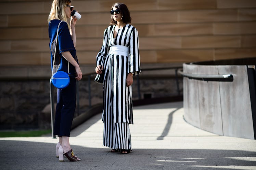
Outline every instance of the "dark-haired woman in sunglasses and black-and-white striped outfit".
[[104, 31], [103, 45], [97, 55], [97, 74], [104, 74], [103, 145], [111, 152], [131, 151], [129, 124], [132, 115], [132, 76], [140, 74], [139, 37], [131, 22], [130, 12], [123, 3], [115, 3], [111, 23]]

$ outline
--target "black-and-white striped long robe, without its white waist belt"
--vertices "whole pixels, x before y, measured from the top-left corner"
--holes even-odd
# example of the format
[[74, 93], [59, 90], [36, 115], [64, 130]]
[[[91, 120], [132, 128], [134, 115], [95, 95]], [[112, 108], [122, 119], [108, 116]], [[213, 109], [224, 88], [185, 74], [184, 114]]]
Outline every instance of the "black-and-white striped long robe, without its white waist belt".
[[[104, 66], [103, 115], [112, 114], [114, 123], [133, 124], [131, 86], [126, 86], [129, 72], [140, 74], [139, 36], [135, 27], [127, 24], [120, 28], [114, 38], [114, 27], [104, 31], [103, 45], [97, 55], [97, 66]], [[129, 47], [128, 56], [107, 55], [110, 46], [124, 45]]]

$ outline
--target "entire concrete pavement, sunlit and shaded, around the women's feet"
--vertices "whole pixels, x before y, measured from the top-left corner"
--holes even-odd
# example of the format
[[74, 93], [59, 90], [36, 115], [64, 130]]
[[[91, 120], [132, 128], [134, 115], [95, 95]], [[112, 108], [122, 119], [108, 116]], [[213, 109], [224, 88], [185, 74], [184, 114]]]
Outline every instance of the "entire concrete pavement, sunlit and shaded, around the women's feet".
[[103, 123], [97, 114], [71, 132], [78, 162], [59, 162], [58, 139], [0, 138], [1, 169], [256, 169], [256, 140], [218, 136], [183, 119], [182, 102], [134, 107], [130, 154], [102, 146]]

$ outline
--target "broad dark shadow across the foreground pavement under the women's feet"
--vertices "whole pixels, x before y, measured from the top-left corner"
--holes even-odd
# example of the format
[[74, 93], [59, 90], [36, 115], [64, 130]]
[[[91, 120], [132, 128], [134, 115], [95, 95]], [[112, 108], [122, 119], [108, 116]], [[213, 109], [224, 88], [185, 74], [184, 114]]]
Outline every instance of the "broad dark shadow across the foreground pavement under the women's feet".
[[[253, 169], [255, 152], [239, 150], [133, 149], [130, 154], [109, 148], [74, 146], [78, 162], [59, 162], [55, 144], [0, 141], [1, 169]], [[244, 167], [246, 166], [246, 167]]]

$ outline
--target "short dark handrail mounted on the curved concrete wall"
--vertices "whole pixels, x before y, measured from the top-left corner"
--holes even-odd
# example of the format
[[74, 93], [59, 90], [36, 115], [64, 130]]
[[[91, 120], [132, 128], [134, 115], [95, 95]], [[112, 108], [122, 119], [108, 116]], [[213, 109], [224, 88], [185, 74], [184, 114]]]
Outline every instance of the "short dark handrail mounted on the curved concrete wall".
[[232, 74], [190, 74], [184, 73], [180, 69], [178, 73], [189, 79], [203, 80], [203, 81], [227, 81], [232, 82], [234, 80]]

